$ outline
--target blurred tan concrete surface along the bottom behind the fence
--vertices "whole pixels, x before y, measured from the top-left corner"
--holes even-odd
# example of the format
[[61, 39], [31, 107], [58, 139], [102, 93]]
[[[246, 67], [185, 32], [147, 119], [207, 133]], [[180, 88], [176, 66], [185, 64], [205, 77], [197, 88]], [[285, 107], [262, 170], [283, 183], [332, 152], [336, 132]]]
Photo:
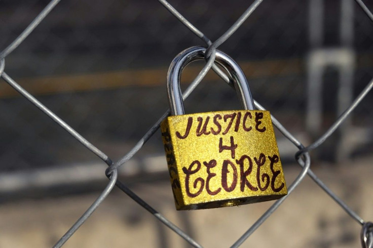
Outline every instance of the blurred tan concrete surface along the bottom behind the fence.
[[[365, 221], [373, 221], [373, 157], [313, 171]], [[284, 168], [288, 186], [300, 167]], [[131, 186], [204, 247], [229, 247], [273, 202], [176, 212], [168, 178]], [[98, 193], [28, 199], [0, 205], [0, 247], [51, 247]], [[361, 247], [360, 225], [306, 178], [242, 247]], [[64, 247], [189, 247], [118, 189], [107, 197]]]

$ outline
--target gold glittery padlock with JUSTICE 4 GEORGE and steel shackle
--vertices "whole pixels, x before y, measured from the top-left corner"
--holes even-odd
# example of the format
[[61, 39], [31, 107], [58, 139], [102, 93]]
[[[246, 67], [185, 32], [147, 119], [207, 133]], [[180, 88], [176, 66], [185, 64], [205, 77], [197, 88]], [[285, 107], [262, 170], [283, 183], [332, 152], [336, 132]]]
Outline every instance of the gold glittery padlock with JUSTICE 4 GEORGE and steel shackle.
[[171, 116], [161, 123], [176, 210], [210, 209], [278, 199], [287, 194], [269, 111], [253, 110], [246, 77], [228, 55], [215, 63], [233, 79], [245, 110], [184, 114], [182, 69], [206, 48], [178, 54], [167, 74]]

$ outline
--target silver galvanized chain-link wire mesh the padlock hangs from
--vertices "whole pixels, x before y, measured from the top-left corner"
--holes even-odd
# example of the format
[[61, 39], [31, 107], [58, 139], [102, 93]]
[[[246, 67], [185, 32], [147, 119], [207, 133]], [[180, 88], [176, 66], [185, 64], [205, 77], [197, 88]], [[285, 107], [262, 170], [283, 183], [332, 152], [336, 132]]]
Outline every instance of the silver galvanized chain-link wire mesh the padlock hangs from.
[[[215, 50], [225, 43], [231, 35], [233, 35], [238, 28], [245, 22], [247, 18], [250, 17], [250, 15], [256, 11], [257, 8], [259, 8], [260, 4], [263, 2], [263, 0], [256, 0], [254, 1], [247, 10], [236, 20], [236, 22], [225, 32], [220, 31], [220, 36], [217, 38], [214, 42], [211, 42], [211, 40], [203, 33], [201, 32], [196, 26], [194, 26], [192, 23], [188, 21], [188, 19], [184, 18], [172, 5], [170, 5], [168, 2], [159, 0], [159, 2], [172, 14], [174, 15], [183, 25], [185, 25], [192, 33], [194, 33], [198, 38], [200, 38], [204, 43], [206, 43], [206, 46], [208, 47], [206, 51], [206, 59], [207, 63], [205, 64], [204, 68], [199, 72], [198, 76], [194, 78], [191, 85], [184, 91], [183, 97], [187, 98], [191, 92], [197, 87], [199, 82], [204, 78], [204, 76], [207, 74], [207, 72], [212, 68], [223, 80], [225, 80], [228, 84], [230, 83], [229, 78], [225, 75], [225, 73], [221, 72], [218, 67], [216, 67], [214, 62], [214, 54]], [[140, 206], [142, 206], [145, 210], [150, 212], [154, 215], [155, 218], [157, 218], [160, 222], [165, 224], [167, 227], [169, 227], [171, 230], [173, 230], [175, 233], [177, 233], [179, 236], [184, 238], [187, 242], [189, 242], [191, 245], [195, 247], [201, 247], [201, 245], [194, 240], [192, 237], [187, 235], [185, 232], [183, 232], [179, 227], [168, 221], [163, 215], [161, 215], [158, 211], [156, 211], [150, 204], [143, 201], [138, 195], [136, 195], [129, 187], [127, 187], [124, 183], [118, 180], [118, 172], [117, 169], [123, 164], [125, 164], [131, 157], [134, 156], [141, 148], [142, 146], [155, 134], [155, 132], [159, 129], [160, 122], [169, 115], [169, 110], [166, 111], [159, 120], [154, 124], [154, 126], [148, 130], [145, 135], [133, 146], [133, 148], [123, 157], [118, 159], [117, 161], [113, 162], [103, 151], [98, 149], [96, 146], [94, 146], [92, 143], [90, 143], [88, 140], [86, 140], [81, 134], [76, 132], [74, 129], [72, 129], [67, 123], [59, 118], [53, 111], [51, 111], [49, 108], [47, 108], [44, 104], [42, 104], [39, 100], [37, 100], [32, 94], [29, 94], [25, 89], [23, 89], [15, 80], [13, 80], [4, 70], [5, 70], [5, 58], [7, 58], [8, 55], [10, 55], [25, 39], [26, 37], [35, 29], [36, 26], [39, 25], [43, 21], [43, 19], [49, 14], [49, 12], [59, 3], [59, 1], [51, 1], [47, 7], [30, 23], [30, 25], [16, 38], [11, 42], [11, 44], [0, 53], [0, 75], [1, 77], [12, 87], [14, 88], [19, 94], [21, 94], [23, 97], [25, 97], [29, 102], [31, 102], [34, 106], [39, 108], [42, 112], [44, 112], [47, 116], [49, 116], [51, 119], [53, 119], [60, 127], [62, 127], [66, 132], [68, 132], [72, 137], [77, 139], [80, 143], [82, 143], [86, 148], [88, 148], [93, 154], [98, 156], [100, 159], [102, 159], [108, 166], [108, 169], [106, 170], [106, 175], [109, 178], [109, 183], [107, 184], [106, 188], [102, 191], [102, 193], [99, 195], [99, 197], [94, 201], [94, 203], [90, 206], [89, 209], [83, 214], [83, 216], [66, 232], [65, 235], [56, 243], [55, 247], [60, 247], [64, 244], [64, 242], [67, 241], [71, 235], [89, 218], [89, 216], [93, 213], [93, 211], [99, 206], [99, 204], [105, 199], [105, 197], [110, 193], [111, 189], [114, 188], [114, 186], [117, 186], [120, 188], [123, 192], [125, 192], [128, 196], [130, 196], [134, 201], [136, 201]], [[371, 12], [366, 8], [364, 3], [360, 0], [356, 0], [356, 3], [362, 8], [362, 10], [366, 13], [366, 15], [369, 17], [371, 21], [373, 21], [373, 15]], [[82, 29], [83, 30], [83, 29]], [[290, 34], [289, 34], [290, 35]], [[294, 35], [294, 34], [292, 34]], [[296, 34], [295, 34], [296, 35]], [[255, 37], [254, 37], [255, 38]], [[260, 37], [259, 37], [260, 38]], [[138, 39], [142, 39], [141, 35], [139, 34]], [[58, 40], [56, 38], [56, 40]], [[94, 42], [93, 42], [94, 43]], [[172, 43], [172, 42], [171, 42]], [[96, 46], [99, 46], [99, 42], [95, 44]], [[92, 46], [95, 46], [92, 45]], [[126, 51], [130, 53], [131, 51]], [[55, 55], [57, 56], [57, 55]], [[42, 59], [41, 59], [42, 60]], [[38, 63], [35, 63], [38, 66]], [[105, 65], [108, 66], [108, 65]], [[93, 66], [94, 67], [94, 66]], [[294, 188], [299, 185], [304, 177], [306, 175], [309, 175], [315, 183], [317, 183], [331, 198], [333, 198], [345, 211], [348, 215], [350, 215], [355, 221], [360, 223], [362, 228], [362, 244], [365, 245], [364, 247], [370, 247], [371, 246], [371, 233], [372, 233], [372, 227], [371, 223], [364, 221], [362, 218], [360, 218], [347, 204], [343, 202], [342, 199], [340, 199], [337, 195], [335, 195], [330, 189], [326, 187], [326, 185], [318, 179], [318, 177], [310, 170], [311, 166], [311, 158], [309, 155], [309, 151], [314, 150], [315, 148], [319, 147], [325, 140], [327, 140], [331, 134], [333, 134], [338, 127], [341, 126], [342, 122], [351, 114], [351, 112], [359, 105], [359, 103], [362, 101], [362, 99], [366, 96], [366, 94], [371, 90], [373, 87], [373, 80], [369, 82], [369, 84], [361, 91], [361, 93], [356, 97], [356, 99], [353, 101], [353, 103], [338, 117], [336, 121], [332, 123], [330, 128], [319, 138], [313, 142], [309, 146], [304, 146], [300, 141], [298, 141], [290, 132], [288, 132], [283, 125], [274, 117], [272, 116], [273, 124], [278, 128], [278, 130], [289, 140], [291, 141], [294, 146], [299, 149], [299, 151], [296, 152], [295, 157], [297, 162], [300, 164], [300, 166], [303, 167], [301, 173], [297, 176], [297, 178], [291, 183], [291, 185], [288, 187], [288, 195], [286, 197], [281, 198], [280, 200], [277, 200], [271, 208], [267, 210], [267, 212], [260, 217], [250, 228], [247, 229], [246, 232], [242, 234], [242, 236], [236, 240], [232, 241], [233, 245], [232, 247], [237, 247], [241, 245], [266, 219], [278, 208], [278, 206], [286, 200], [286, 198], [290, 195], [290, 193], [294, 190]], [[264, 109], [263, 106], [261, 106], [258, 102], [255, 101], [255, 106], [258, 109]], [[34, 132], [31, 131], [25, 131], [27, 132]], [[40, 131], [41, 132], [41, 131]]]

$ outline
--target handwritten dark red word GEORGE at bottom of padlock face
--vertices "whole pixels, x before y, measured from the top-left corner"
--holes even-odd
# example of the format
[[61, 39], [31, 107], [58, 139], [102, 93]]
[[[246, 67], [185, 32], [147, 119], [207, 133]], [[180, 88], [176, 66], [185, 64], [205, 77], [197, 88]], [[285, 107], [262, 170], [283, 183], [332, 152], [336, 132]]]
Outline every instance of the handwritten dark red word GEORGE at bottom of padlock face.
[[[253, 172], [253, 160], [256, 163], [256, 172]], [[260, 153], [259, 157], [253, 157], [253, 159], [251, 159], [250, 156], [242, 155], [240, 159], [236, 159], [236, 164], [226, 159], [222, 162], [221, 171], [218, 170], [221, 172], [220, 182], [216, 183], [215, 180], [219, 179], [218, 177], [215, 178], [216, 173], [211, 172], [211, 170], [216, 167], [216, 160], [212, 159], [210, 161], [204, 161], [203, 163], [194, 160], [188, 168], [182, 168], [185, 174], [185, 190], [189, 197], [197, 197], [204, 189], [206, 189], [209, 195], [216, 195], [221, 192], [222, 189], [226, 192], [232, 192], [236, 189], [237, 185], [241, 192], [244, 192], [246, 188], [251, 191], [266, 191], [269, 186], [274, 192], [280, 192], [284, 187], [284, 183], [276, 187], [276, 178], [281, 173], [280, 170], [274, 169], [274, 164], [278, 161], [278, 155], [274, 154], [273, 156], [266, 157], [264, 153]], [[269, 167], [272, 172], [271, 176], [268, 173], [260, 172], [260, 168], [265, 166], [266, 162], [269, 162]], [[206, 175], [206, 173], [201, 172], [201, 170], [203, 170], [202, 164], [206, 169], [206, 178], [200, 177], [201, 174]], [[247, 169], [245, 170], [245, 168]], [[255, 175], [250, 176], [251, 173], [255, 173]], [[247, 177], [253, 179], [250, 180], [251, 182], [256, 181], [256, 183], [250, 183]], [[211, 188], [210, 185], [221, 185], [221, 187], [215, 186], [215, 188]], [[194, 188], [193, 191], [192, 187]]]

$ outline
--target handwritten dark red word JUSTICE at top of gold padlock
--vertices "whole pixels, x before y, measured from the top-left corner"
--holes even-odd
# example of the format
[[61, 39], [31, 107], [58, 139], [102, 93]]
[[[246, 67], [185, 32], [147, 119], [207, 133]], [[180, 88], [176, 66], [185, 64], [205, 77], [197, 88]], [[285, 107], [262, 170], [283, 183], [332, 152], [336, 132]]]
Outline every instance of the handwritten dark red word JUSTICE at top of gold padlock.
[[[242, 123], [241, 123], [242, 119]], [[252, 116], [250, 112], [246, 112], [245, 114], [241, 114], [241, 112], [233, 112], [230, 114], [215, 114], [211, 118], [210, 116], [207, 116], [205, 120], [202, 117], [197, 117], [198, 126], [196, 128], [196, 135], [226, 135], [231, 129], [234, 129], [235, 132], [238, 132], [241, 127], [244, 131], [249, 132], [252, 129], [255, 129], [258, 132], [265, 132], [266, 127], [260, 126], [262, 124], [262, 121], [260, 119], [263, 119], [263, 112], [255, 112], [255, 116]], [[234, 127], [233, 126], [234, 122]], [[191, 129], [193, 125], [193, 117], [188, 118], [188, 124], [187, 128], [183, 132], [183, 135], [176, 131], [176, 137], [179, 139], [185, 139], [189, 136]], [[259, 127], [260, 126], [260, 127]]]

